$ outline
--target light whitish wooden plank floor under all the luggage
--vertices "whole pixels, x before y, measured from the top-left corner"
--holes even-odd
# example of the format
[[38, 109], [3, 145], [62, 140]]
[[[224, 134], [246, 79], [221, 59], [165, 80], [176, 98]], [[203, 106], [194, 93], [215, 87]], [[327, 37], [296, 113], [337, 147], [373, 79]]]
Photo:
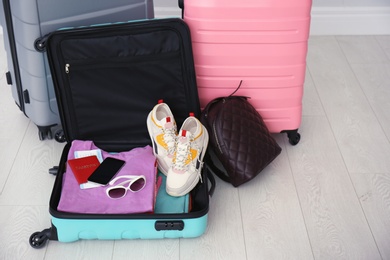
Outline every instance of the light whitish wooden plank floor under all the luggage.
[[0, 48], [0, 259], [390, 259], [390, 36], [309, 41], [301, 142], [240, 188], [217, 182], [197, 239], [49, 241], [62, 144], [14, 105]]

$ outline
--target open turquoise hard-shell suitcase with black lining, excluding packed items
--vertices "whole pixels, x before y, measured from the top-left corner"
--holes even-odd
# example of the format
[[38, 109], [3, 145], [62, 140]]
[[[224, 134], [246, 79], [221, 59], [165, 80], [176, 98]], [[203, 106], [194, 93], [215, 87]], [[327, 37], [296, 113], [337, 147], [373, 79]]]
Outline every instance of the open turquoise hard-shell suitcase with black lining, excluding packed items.
[[[181, 19], [144, 20], [56, 31], [41, 41], [46, 45], [67, 144], [55, 170], [51, 227], [32, 234], [30, 245], [40, 248], [47, 240], [202, 235], [215, 187], [206, 164], [203, 181], [191, 191], [188, 213], [76, 214], [57, 210], [72, 140], [92, 140], [109, 152], [150, 145], [146, 118], [160, 99], [169, 104], [178, 127], [190, 112], [200, 115], [187, 25]], [[86, 100], [100, 107], [82, 105]], [[101, 106], [109, 113], [102, 114]]]

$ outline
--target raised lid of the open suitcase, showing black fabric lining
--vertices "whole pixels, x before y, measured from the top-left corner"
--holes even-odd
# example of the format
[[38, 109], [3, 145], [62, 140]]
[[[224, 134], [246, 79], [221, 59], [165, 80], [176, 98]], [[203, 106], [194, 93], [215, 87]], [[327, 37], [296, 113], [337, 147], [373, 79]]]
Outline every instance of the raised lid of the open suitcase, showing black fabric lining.
[[178, 128], [200, 115], [191, 39], [181, 19], [56, 31], [46, 42], [66, 140], [106, 151], [151, 144], [146, 119], [163, 99]]

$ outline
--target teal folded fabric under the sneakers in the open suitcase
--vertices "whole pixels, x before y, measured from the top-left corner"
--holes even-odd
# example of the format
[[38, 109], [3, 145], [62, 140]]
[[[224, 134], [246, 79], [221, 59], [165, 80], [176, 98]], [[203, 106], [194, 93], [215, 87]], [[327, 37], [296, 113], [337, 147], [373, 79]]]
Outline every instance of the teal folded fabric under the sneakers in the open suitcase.
[[155, 213], [188, 213], [190, 208], [190, 195], [186, 194], [181, 197], [173, 197], [166, 192], [167, 177], [160, 171], [157, 175], [162, 179], [160, 189], [157, 193], [156, 204], [154, 207]]

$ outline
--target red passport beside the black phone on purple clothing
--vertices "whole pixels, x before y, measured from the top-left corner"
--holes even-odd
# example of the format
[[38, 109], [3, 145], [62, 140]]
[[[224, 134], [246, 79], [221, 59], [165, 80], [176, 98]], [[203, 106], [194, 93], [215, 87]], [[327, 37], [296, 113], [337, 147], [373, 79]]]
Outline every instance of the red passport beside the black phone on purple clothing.
[[100, 165], [98, 158], [93, 156], [87, 156], [77, 159], [68, 160], [68, 164], [73, 171], [74, 176], [79, 184], [88, 182], [88, 177], [97, 169]]

